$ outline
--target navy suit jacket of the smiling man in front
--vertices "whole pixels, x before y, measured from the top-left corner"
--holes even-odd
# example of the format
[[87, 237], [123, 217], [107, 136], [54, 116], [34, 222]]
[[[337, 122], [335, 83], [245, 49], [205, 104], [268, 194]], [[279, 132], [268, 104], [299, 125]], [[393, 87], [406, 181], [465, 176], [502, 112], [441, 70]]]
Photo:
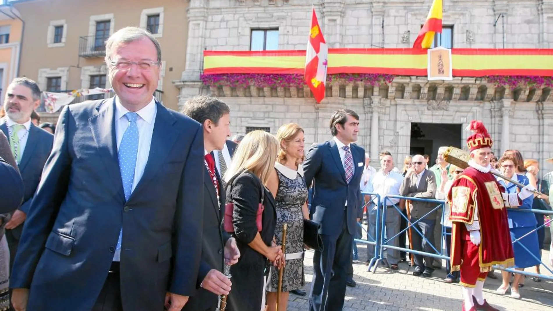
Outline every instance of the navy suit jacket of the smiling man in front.
[[203, 131], [185, 115], [156, 106], [148, 162], [127, 202], [114, 99], [63, 108], [10, 280], [12, 288], [30, 288], [28, 310], [90, 310], [121, 228], [123, 309], [161, 311], [166, 292], [196, 292]]

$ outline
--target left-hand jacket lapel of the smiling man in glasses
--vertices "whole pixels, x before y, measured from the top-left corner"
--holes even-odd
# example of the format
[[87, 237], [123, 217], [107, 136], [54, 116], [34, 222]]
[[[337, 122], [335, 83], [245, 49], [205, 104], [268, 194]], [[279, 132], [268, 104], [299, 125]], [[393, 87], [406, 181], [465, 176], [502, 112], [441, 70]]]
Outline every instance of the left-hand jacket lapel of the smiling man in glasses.
[[112, 101], [102, 101], [96, 107], [98, 114], [88, 120], [92, 138], [96, 142], [98, 155], [106, 166], [107, 175], [113, 186], [118, 188], [120, 198], [124, 201], [123, 182], [117, 158], [117, 140], [115, 136], [115, 97]]

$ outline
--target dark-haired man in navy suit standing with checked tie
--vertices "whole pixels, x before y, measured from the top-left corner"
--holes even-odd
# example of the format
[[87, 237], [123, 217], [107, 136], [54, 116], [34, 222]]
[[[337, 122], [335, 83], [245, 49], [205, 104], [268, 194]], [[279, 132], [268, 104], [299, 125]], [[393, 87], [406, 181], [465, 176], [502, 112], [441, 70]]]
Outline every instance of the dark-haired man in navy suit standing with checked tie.
[[359, 117], [353, 110], [333, 114], [330, 130], [334, 138], [312, 147], [304, 162], [306, 185], [315, 183], [310, 217], [321, 225], [324, 244], [313, 257], [311, 311], [342, 310], [365, 158], [365, 150], [352, 144], [359, 132]]

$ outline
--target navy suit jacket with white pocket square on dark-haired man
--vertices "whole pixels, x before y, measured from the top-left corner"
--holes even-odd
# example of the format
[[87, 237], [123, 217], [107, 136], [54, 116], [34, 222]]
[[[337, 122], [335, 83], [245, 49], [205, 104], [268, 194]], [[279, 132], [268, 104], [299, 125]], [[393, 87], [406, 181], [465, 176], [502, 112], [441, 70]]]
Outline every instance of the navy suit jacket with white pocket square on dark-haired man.
[[310, 214], [314, 222], [321, 224], [320, 234], [339, 234], [343, 222], [346, 222], [349, 234], [356, 232], [365, 150], [355, 144], [349, 146], [355, 170], [349, 183], [346, 182], [346, 171], [333, 139], [312, 147], [303, 164], [306, 185], [315, 183]]

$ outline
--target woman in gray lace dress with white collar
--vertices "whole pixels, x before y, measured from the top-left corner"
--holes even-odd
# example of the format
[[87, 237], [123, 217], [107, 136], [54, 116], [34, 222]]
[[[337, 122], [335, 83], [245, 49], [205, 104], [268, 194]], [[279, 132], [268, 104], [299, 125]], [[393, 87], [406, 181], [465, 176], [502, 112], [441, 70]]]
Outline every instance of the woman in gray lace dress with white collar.
[[[304, 287], [304, 218], [307, 212], [307, 186], [301, 162], [304, 160], [304, 130], [295, 123], [280, 126], [276, 133], [280, 151], [276, 157], [275, 170], [269, 177], [267, 187], [275, 196], [276, 244], [281, 245], [283, 224], [288, 224], [286, 234], [286, 260], [282, 281], [282, 293], [277, 311], [288, 307], [288, 293]], [[277, 264], [281, 266], [280, 263]], [[271, 267], [267, 284], [267, 311], [276, 310], [278, 289], [277, 267]]]

